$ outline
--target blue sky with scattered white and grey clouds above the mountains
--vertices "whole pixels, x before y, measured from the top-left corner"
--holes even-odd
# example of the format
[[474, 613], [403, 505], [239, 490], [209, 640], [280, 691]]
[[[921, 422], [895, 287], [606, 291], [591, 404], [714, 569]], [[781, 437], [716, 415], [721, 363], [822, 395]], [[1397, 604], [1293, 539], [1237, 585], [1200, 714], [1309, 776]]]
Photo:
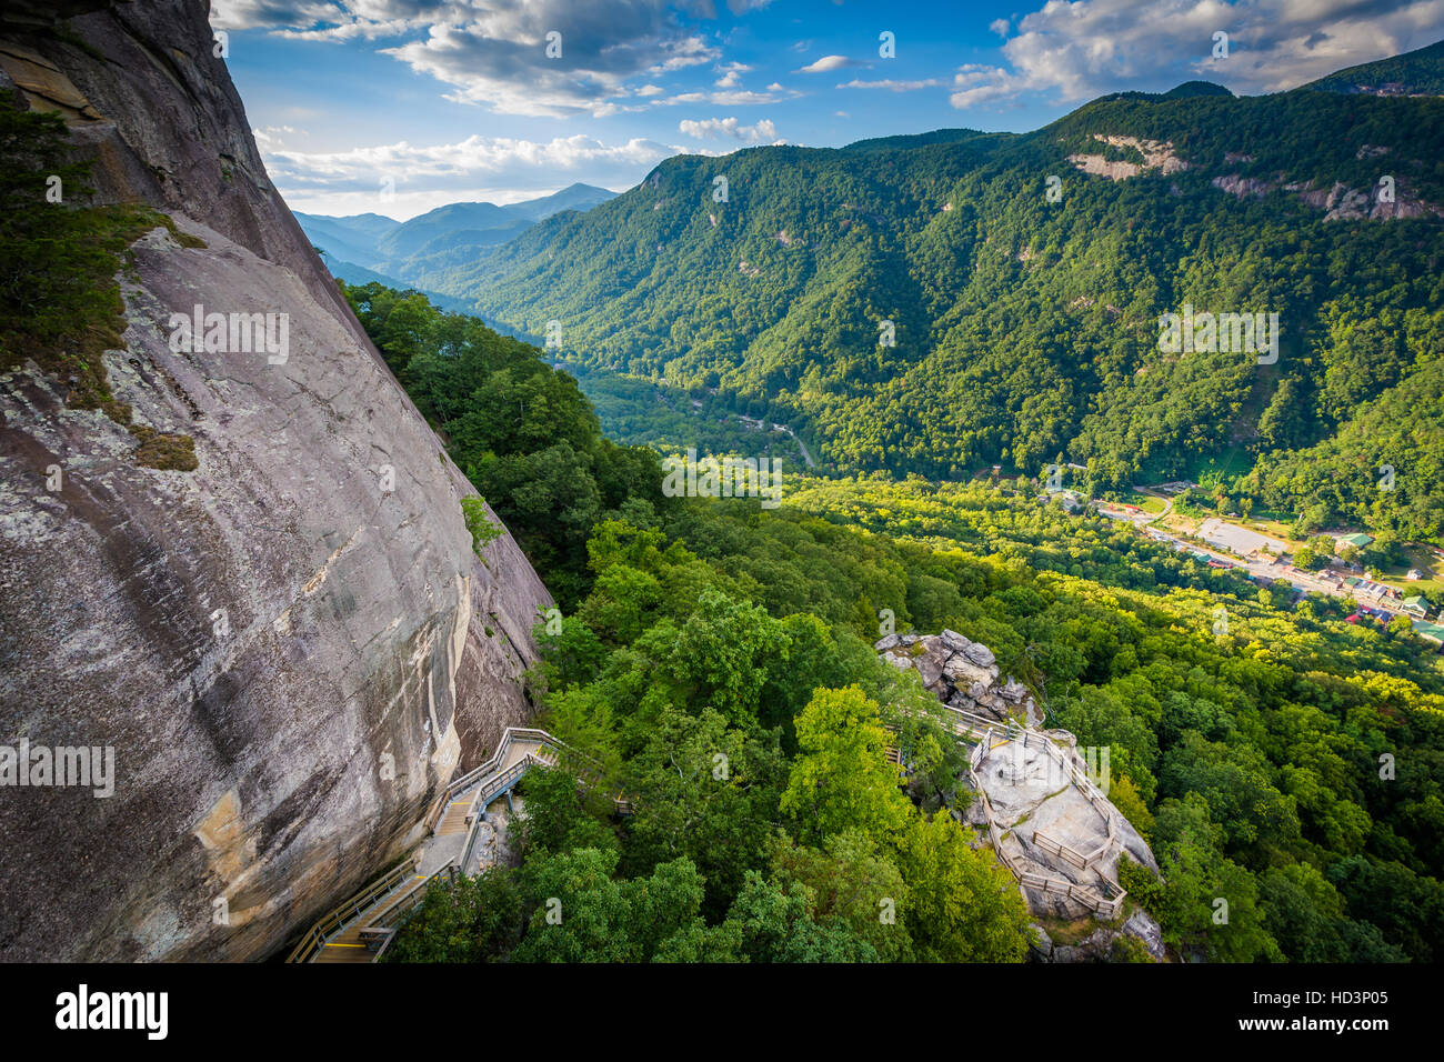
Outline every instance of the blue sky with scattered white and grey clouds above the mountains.
[[679, 152], [1030, 130], [1191, 78], [1279, 91], [1432, 43], [1444, 0], [212, 0], [211, 23], [292, 208], [407, 218], [622, 191]]

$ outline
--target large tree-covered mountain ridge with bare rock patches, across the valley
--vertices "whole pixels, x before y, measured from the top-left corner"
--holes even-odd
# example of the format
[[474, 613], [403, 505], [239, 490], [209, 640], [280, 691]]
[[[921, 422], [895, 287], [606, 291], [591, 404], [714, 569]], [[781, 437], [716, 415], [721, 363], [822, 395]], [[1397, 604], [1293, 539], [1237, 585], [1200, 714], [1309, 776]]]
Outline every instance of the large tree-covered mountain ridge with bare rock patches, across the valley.
[[[1259, 506], [1437, 538], [1444, 101], [1318, 87], [677, 156], [427, 280], [524, 334], [560, 322], [585, 364], [716, 387], [836, 468], [1061, 455], [1106, 491], [1227, 457]], [[1276, 360], [1161, 350], [1187, 306], [1278, 314]]]

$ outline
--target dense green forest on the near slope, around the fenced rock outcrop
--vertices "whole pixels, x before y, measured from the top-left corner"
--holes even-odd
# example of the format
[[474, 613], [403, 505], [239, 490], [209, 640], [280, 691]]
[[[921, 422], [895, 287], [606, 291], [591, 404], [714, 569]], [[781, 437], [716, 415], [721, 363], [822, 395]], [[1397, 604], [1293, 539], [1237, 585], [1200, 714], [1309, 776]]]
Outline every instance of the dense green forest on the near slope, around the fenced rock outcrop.
[[1034, 919], [952, 813], [959, 746], [872, 652], [884, 610], [986, 643], [1047, 725], [1112, 750], [1162, 870], [1123, 884], [1171, 955], [1437, 958], [1444, 669], [1406, 629], [1066, 519], [1027, 480], [664, 497], [660, 455], [604, 439], [537, 348], [345, 290], [565, 610], [529, 689], [572, 753], [523, 783], [520, 865], [430, 890], [391, 961], [1022, 959]]

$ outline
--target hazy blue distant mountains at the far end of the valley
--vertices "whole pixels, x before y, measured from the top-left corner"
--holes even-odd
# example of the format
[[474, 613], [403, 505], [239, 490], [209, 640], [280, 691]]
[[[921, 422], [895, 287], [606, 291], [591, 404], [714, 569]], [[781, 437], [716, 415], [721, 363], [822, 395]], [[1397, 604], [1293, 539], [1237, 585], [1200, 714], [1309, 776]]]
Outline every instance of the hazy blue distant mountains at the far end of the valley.
[[[539, 221], [562, 211], [586, 211], [617, 194], [595, 185], [575, 184], [560, 192], [498, 207], [492, 202], [452, 202], [396, 221], [381, 214], [331, 217], [302, 214], [296, 221], [312, 244], [325, 253], [331, 272], [348, 283], [404, 282], [403, 286], [430, 289], [429, 279], [440, 270], [471, 263], [490, 250], [520, 236]], [[461, 302], [440, 299], [442, 303]]]

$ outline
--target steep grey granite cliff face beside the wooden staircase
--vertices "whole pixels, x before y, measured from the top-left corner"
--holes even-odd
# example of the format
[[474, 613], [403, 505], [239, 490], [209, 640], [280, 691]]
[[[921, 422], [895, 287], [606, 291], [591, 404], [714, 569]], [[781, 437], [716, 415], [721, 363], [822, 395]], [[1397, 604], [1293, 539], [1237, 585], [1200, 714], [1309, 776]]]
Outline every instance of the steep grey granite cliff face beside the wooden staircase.
[[[270, 185], [205, 3], [10, 3], [0, 91], [65, 116], [100, 202], [205, 244], [142, 237], [104, 355], [193, 471], [0, 377], [0, 747], [114, 750], [110, 796], [0, 787], [0, 959], [263, 958], [527, 718], [552, 603], [510, 536], [472, 552], [474, 491]], [[196, 305], [286, 315], [284, 353], [178, 353]]]

